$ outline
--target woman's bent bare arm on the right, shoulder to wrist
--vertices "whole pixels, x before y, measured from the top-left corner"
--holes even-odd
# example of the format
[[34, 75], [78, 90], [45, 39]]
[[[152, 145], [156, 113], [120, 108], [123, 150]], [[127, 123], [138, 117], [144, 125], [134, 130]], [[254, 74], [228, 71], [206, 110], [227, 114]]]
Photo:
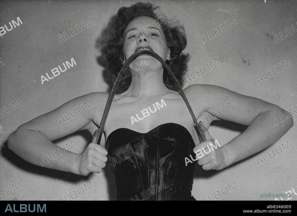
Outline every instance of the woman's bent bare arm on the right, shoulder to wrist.
[[275, 124], [275, 116], [286, 116], [285, 110], [279, 106], [220, 86], [191, 85], [187, 88], [187, 93], [192, 104], [203, 101], [208, 113], [249, 126], [224, 145], [225, 167], [271, 146], [293, 126], [292, 118]]

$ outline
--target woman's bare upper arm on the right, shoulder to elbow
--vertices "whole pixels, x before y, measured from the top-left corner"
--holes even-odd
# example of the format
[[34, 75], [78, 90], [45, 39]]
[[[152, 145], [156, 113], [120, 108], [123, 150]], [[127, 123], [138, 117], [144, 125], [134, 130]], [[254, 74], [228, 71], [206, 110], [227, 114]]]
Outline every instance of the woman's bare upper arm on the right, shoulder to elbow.
[[191, 85], [185, 89], [189, 102], [200, 109], [230, 122], [249, 125], [259, 114], [274, 109], [282, 109], [256, 97], [239, 94], [221, 86]]

